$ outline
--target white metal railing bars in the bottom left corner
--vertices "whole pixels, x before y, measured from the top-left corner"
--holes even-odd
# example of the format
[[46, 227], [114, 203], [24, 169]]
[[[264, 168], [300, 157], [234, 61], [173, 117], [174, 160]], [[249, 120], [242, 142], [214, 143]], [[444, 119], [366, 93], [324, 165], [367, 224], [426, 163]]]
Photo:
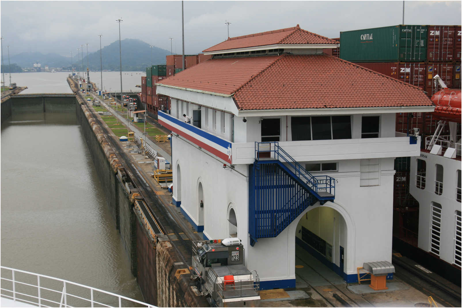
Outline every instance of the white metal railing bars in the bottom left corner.
[[[14, 269], [14, 268], [11, 268], [11, 267], [3, 267], [3, 266], [1, 266], [0, 268], [2, 270], [1, 271], [2, 275], [1, 275], [1, 278], [0, 278], [1, 279], [1, 286], [2, 286], [0, 288], [0, 295], [1, 295], [1, 297], [8, 298], [8, 299], [11, 299], [13, 301], [29, 303], [31, 305], [37, 305], [38, 307], [57, 307], [57, 306], [59, 306], [59, 307], [63, 307], [63, 306], [64, 307], [73, 307], [73, 306], [68, 305], [68, 298], [75, 298], [75, 299], [79, 299], [79, 300], [87, 302], [88, 305], [91, 305], [91, 307], [95, 307], [95, 305], [101, 305], [103, 307], [114, 307], [114, 306], [110, 306], [110, 305], [102, 303], [102, 302], [95, 301], [94, 300], [94, 292], [96, 291], [96, 292], [103, 293], [105, 295], [109, 295], [110, 298], [117, 299], [117, 302], [119, 304], [118, 307], [122, 307], [122, 299], [130, 302], [132, 304], [131, 306], [133, 306], [133, 304], [136, 303], [136, 304], [142, 305], [144, 307], [156, 307], [156, 306], [150, 305], [148, 303], [140, 302], [140, 301], [137, 301], [135, 299], [132, 299], [132, 298], [129, 298], [129, 297], [126, 297], [126, 296], [122, 296], [122, 295], [118, 295], [118, 294], [115, 294], [115, 293], [107, 292], [107, 291], [100, 290], [100, 289], [97, 289], [97, 288], [92, 288], [92, 287], [89, 287], [89, 286], [86, 286], [86, 285], [83, 285], [83, 284], [74, 283], [74, 282], [71, 282], [71, 281], [68, 281], [68, 280], [55, 278], [55, 277], [50, 277], [50, 276], [46, 276], [46, 275], [41, 275], [41, 274], [37, 274], [37, 273], [33, 273], [33, 272], [22, 271], [22, 270]], [[11, 277], [12, 278], [10, 279], [10, 278], [4, 277], [5, 272], [11, 272]], [[17, 273], [17, 272], [24, 273], [24, 274], [30, 275], [32, 277], [35, 276], [37, 284], [30, 284], [30, 283], [27, 283], [27, 282], [19, 281], [15, 277], [15, 273]], [[50, 279], [52, 281], [61, 282], [62, 283], [61, 284], [62, 288], [60, 287], [59, 290], [54, 290], [54, 289], [50, 289], [50, 288], [46, 288], [44, 286], [41, 286], [40, 285], [40, 279], [41, 278], [47, 278], [47, 279]], [[7, 287], [5, 287], [6, 282], [11, 282], [12, 283], [12, 289], [11, 290], [8, 289]], [[84, 288], [86, 290], [90, 290], [90, 296], [91, 296], [90, 299], [68, 292], [67, 291], [68, 290], [67, 285], [73, 285], [73, 286], [77, 286], [77, 287], [80, 287], [80, 288]], [[36, 288], [37, 296], [31, 295], [31, 294], [25, 294], [23, 292], [19, 292], [17, 290], [17, 286], [29, 286], [29, 287]], [[55, 300], [53, 300], [51, 298], [44, 298], [43, 295], [42, 295], [43, 290], [49, 291], [52, 294], [61, 294], [61, 301], [56, 302]], [[33, 299], [33, 300], [30, 300], [30, 299]], [[37, 301], [35, 301], [35, 300], [37, 300]], [[47, 306], [47, 305], [44, 305], [43, 302], [47, 302], [49, 304], [55, 304], [55, 305]], [[80, 307], [83, 307], [83, 306], [80, 306]]]

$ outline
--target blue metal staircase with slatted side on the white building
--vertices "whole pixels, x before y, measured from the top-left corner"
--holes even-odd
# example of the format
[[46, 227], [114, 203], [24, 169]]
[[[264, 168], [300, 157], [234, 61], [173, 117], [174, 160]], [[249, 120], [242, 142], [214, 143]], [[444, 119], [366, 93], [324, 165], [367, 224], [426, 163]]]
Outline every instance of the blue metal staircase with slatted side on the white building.
[[250, 245], [276, 237], [307, 207], [334, 200], [335, 179], [313, 176], [280, 146], [255, 142], [255, 163], [249, 166]]

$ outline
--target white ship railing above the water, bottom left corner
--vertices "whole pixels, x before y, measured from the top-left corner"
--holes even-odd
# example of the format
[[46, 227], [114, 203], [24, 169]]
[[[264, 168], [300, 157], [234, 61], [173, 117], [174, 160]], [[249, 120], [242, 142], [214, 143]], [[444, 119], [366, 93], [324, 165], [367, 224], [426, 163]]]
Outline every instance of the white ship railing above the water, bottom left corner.
[[0, 296], [37, 307], [156, 307], [83, 284], [1, 268]]

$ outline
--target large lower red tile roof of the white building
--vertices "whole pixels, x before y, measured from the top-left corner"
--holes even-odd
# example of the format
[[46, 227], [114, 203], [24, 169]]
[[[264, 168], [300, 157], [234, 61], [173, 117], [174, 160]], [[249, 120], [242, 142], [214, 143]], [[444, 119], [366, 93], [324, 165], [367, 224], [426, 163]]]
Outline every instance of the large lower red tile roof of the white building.
[[159, 84], [234, 93], [240, 110], [432, 106], [413, 85], [325, 54], [210, 59]]

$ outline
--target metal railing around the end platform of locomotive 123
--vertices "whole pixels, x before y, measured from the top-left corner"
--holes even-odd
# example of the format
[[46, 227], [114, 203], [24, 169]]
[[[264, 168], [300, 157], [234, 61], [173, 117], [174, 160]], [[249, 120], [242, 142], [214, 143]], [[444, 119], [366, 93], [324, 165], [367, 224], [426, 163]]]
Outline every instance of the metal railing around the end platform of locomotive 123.
[[223, 299], [260, 295], [260, 278], [236, 279], [234, 284], [222, 281], [215, 285], [217, 294]]

